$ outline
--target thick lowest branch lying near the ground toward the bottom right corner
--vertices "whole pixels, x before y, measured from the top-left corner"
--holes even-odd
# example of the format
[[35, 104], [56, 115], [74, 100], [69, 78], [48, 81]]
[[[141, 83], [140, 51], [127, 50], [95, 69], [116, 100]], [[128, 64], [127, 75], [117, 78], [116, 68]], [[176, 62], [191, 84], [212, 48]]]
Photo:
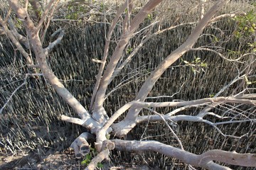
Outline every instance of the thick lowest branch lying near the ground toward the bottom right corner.
[[127, 141], [111, 140], [115, 148], [125, 151], [154, 151], [169, 157], [180, 159], [186, 164], [200, 166], [206, 169], [229, 169], [215, 164], [213, 161], [224, 162], [239, 166], [256, 166], [256, 154], [238, 154], [237, 152], [225, 152], [223, 150], [209, 150], [203, 154], [192, 154], [182, 149], [165, 145], [156, 141]]

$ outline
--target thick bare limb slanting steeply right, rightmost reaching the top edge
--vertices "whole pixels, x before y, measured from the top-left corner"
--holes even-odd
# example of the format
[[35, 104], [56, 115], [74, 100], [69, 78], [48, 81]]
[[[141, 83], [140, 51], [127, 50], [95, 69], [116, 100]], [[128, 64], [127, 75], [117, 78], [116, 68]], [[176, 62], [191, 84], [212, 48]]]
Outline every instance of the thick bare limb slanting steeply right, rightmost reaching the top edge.
[[[158, 67], [154, 70], [154, 72], [151, 73], [148, 79], [144, 82], [142, 88], [139, 90], [139, 93], [137, 94], [135, 100], [144, 101], [146, 96], [149, 94], [149, 91], [153, 88], [156, 81], [161, 77], [161, 74], [164, 73], [164, 71], [173, 64], [178, 58], [180, 58], [183, 54], [188, 52], [188, 50], [191, 50], [193, 45], [198, 40], [199, 36], [203, 32], [203, 29], [206, 28], [211, 18], [213, 18], [214, 14], [227, 2], [227, 0], [219, 0], [210, 10], [206, 13], [206, 15], [202, 18], [201, 21], [199, 21], [196, 28], [192, 31], [191, 35], [188, 37], [186, 42], [183, 43], [180, 47], [178, 47], [174, 52], [171, 52], [171, 54], [166, 57], [166, 59], [159, 64]], [[107, 83], [107, 82], [106, 82]], [[129, 126], [130, 128], [124, 128], [119, 129], [118, 135], [125, 135], [129, 130], [131, 130], [130, 123], [134, 122], [137, 119], [137, 116], [141, 109], [137, 108], [130, 108], [129, 112], [127, 113], [126, 118], [122, 120], [121, 122], [117, 123], [119, 125], [124, 125], [124, 122], [126, 123], [124, 126]]]

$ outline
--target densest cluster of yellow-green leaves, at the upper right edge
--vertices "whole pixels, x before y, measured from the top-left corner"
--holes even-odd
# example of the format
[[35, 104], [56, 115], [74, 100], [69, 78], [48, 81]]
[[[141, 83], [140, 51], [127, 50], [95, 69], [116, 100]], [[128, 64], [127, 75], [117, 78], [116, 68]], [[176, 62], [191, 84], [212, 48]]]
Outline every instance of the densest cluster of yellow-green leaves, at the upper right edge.
[[249, 37], [256, 30], [256, 12], [249, 11], [246, 15], [235, 16], [233, 18], [238, 23], [238, 28], [235, 30], [235, 37]]

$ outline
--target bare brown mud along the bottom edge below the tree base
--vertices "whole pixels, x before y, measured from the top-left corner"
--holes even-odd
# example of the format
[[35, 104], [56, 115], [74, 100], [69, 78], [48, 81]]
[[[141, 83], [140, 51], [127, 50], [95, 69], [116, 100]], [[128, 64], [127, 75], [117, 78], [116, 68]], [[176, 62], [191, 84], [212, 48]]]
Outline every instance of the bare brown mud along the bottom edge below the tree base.
[[[36, 152], [21, 153], [14, 156], [0, 155], [0, 169], [1, 170], [80, 170], [85, 169], [85, 166], [81, 165], [81, 159], [75, 159], [73, 149], [65, 149], [61, 152], [54, 152], [52, 149], [47, 153], [38, 154]], [[104, 170], [149, 170], [156, 169], [156, 167], [150, 167], [146, 164], [142, 165], [120, 165], [111, 166], [109, 162], [103, 163]]]

